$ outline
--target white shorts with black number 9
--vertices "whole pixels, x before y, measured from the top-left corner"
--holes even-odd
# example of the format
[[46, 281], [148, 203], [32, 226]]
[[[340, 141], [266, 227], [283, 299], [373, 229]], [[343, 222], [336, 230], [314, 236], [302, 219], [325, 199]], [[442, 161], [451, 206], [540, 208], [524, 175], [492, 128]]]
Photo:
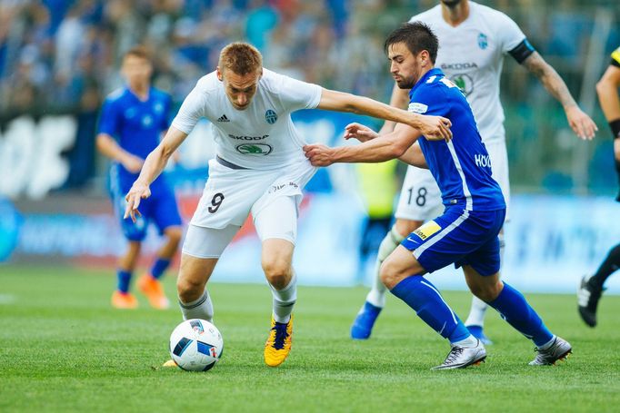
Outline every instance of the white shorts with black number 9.
[[[295, 243], [302, 190], [315, 172], [307, 161], [269, 171], [238, 170], [209, 161], [209, 179], [185, 236], [184, 252], [219, 257], [250, 212], [261, 241], [280, 238]], [[194, 237], [194, 227], [220, 231], [201, 231]], [[218, 241], [205, 241], [214, 236]]]

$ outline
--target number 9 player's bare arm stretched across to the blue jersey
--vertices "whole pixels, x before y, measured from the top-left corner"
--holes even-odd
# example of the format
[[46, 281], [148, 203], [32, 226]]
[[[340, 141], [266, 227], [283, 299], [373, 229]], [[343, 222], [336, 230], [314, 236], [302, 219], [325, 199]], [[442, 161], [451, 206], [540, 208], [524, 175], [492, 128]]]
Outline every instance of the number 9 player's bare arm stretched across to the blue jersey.
[[361, 113], [379, 119], [405, 123], [420, 131], [429, 140], [452, 139], [452, 132], [450, 132], [452, 123], [442, 116], [409, 113], [351, 93], [323, 89], [321, 101], [317, 107], [326, 111]]

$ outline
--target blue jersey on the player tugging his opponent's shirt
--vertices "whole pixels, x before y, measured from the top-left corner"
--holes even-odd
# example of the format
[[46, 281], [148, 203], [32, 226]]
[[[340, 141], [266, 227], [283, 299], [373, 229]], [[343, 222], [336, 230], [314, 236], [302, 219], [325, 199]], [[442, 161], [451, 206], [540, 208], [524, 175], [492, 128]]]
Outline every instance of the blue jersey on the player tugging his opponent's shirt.
[[444, 116], [452, 122], [453, 139], [418, 141], [446, 206], [467, 211], [505, 209], [504, 195], [491, 177], [491, 160], [475, 125], [465, 95], [440, 69], [431, 69], [409, 93], [409, 111]]

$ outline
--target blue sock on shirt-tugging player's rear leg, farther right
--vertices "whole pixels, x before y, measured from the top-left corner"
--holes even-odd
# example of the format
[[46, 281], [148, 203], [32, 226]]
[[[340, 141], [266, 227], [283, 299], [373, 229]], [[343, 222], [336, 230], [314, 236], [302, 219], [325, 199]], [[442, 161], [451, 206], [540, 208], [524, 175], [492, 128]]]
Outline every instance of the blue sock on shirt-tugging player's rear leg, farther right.
[[534, 341], [540, 347], [554, 338], [554, 335], [545, 327], [536, 311], [530, 307], [523, 294], [504, 283], [504, 290], [499, 293], [488, 305], [499, 311], [508, 324], [517, 329], [526, 338]]

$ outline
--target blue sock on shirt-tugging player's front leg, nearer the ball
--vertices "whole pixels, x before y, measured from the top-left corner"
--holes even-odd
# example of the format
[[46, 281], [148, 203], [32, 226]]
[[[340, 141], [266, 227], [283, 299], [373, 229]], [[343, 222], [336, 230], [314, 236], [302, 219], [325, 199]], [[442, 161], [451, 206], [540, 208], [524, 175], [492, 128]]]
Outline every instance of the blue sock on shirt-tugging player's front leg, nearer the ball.
[[469, 337], [469, 331], [448, 307], [431, 281], [414, 275], [400, 281], [391, 290], [399, 299], [415, 310], [417, 316], [451, 343]]

